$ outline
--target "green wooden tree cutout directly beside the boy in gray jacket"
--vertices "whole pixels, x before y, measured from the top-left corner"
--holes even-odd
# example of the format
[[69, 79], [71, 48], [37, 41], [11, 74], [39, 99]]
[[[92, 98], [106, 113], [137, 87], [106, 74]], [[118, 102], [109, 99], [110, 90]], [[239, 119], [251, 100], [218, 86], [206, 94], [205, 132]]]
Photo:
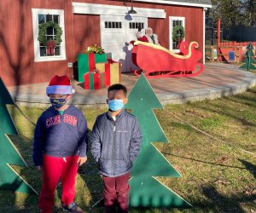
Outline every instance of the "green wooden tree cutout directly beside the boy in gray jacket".
[[125, 108], [132, 109], [143, 131], [143, 146], [131, 170], [130, 206], [133, 207], [190, 207], [177, 193], [166, 187], [157, 176], [180, 177], [152, 142], [168, 142], [154, 115], [154, 109], [163, 109], [143, 74], [131, 90]]

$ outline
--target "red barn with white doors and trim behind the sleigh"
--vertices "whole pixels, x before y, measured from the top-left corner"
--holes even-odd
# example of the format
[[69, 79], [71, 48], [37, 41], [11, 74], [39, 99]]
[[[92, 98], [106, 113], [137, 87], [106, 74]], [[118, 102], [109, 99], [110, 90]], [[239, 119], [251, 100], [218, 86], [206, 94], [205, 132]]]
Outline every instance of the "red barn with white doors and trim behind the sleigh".
[[[131, 6], [136, 14], [131, 13]], [[181, 25], [184, 39], [197, 41], [204, 53], [207, 8], [211, 8], [210, 0], [1, 0], [0, 76], [7, 86], [48, 82], [55, 74], [72, 78], [69, 66], [95, 43], [122, 61], [122, 72], [129, 71], [125, 43], [136, 39], [138, 26], [150, 26], [162, 46], [177, 51], [172, 31]], [[49, 21], [55, 26], [39, 30], [40, 24]], [[61, 39], [54, 52], [46, 42], [38, 41], [42, 33], [46, 42]]]

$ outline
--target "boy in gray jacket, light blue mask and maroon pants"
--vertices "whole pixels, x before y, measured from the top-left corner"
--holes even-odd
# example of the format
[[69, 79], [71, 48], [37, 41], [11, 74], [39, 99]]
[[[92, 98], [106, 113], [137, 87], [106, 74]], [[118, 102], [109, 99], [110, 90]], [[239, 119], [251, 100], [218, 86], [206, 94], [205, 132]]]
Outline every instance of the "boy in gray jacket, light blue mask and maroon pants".
[[126, 112], [127, 89], [122, 84], [108, 88], [108, 112], [99, 115], [90, 134], [91, 153], [99, 163], [104, 183], [105, 212], [128, 212], [129, 178], [137, 158], [142, 132], [137, 118]]

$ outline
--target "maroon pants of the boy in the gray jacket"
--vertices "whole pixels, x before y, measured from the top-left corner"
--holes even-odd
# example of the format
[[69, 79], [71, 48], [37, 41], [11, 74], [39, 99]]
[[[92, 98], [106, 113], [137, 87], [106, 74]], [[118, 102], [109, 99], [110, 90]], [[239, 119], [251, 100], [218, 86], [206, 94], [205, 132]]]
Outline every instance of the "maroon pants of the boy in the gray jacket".
[[103, 176], [104, 181], [104, 205], [106, 212], [115, 212], [115, 203], [119, 204], [120, 212], [128, 212], [129, 206], [129, 178], [130, 173], [123, 176]]

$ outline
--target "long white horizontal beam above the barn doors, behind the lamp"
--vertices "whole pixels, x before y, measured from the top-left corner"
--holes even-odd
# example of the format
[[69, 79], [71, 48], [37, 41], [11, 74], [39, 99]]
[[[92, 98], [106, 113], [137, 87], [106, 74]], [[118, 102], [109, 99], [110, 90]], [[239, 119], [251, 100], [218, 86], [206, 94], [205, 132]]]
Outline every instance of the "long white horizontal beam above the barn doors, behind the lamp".
[[[115, 6], [115, 5], [105, 5], [96, 3], [72, 3], [73, 14], [100, 14], [100, 15], [121, 15], [127, 14], [130, 7], [126, 6]], [[165, 19], [166, 12], [165, 9], [143, 9], [134, 8], [137, 14], [132, 14], [132, 16], [141, 16], [148, 18], [159, 18]]]

